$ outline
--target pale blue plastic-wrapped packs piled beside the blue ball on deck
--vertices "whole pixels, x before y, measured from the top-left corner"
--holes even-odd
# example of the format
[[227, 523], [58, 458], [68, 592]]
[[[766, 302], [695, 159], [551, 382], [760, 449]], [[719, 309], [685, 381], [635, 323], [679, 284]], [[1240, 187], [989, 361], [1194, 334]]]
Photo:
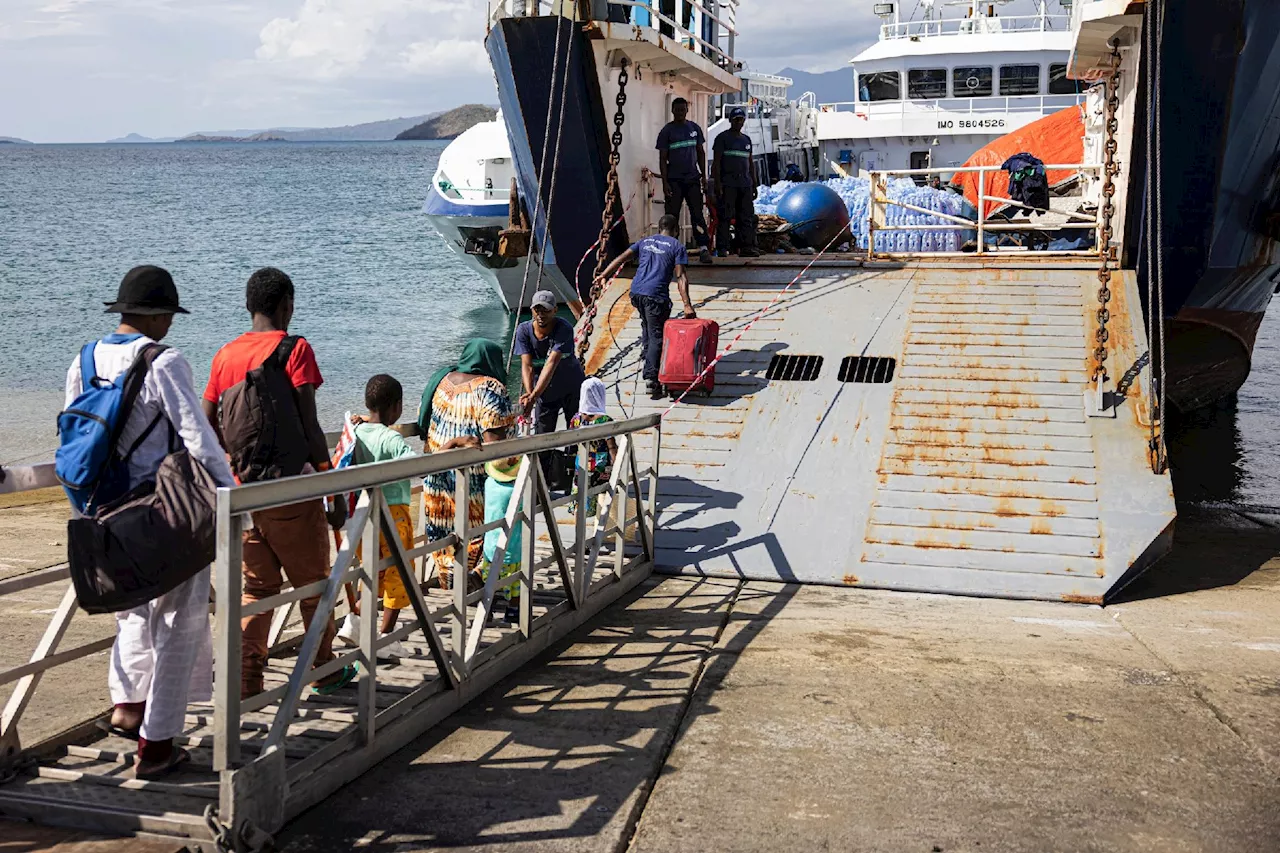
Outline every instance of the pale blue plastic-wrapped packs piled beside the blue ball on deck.
[[[849, 207], [849, 228], [854, 234], [855, 248], [867, 248], [867, 214], [870, 206], [870, 182], [867, 178], [832, 178], [824, 181], [835, 190]], [[776, 214], [778, 201], [792, 187], [790, 181], [780, 181], [772, 187], [760, 187], [755, 200], [756, 214]], [[888, 183], [888, 197], [916, 207], [937, 210], [938, 213], [961, 216], [975, 222], [978, 211], [964, 196], [947, 190], [916, 186], [910, 178], [895, 178]], [[888, 205], [890, 225], [943, 225], [954, 224], [938, 216], [931, 216], [899, 205]], [[955, 252], [966, 240], [975, 240], [975, 231], [892, 231], [876, 234], [876, 251], [881, 252]]]

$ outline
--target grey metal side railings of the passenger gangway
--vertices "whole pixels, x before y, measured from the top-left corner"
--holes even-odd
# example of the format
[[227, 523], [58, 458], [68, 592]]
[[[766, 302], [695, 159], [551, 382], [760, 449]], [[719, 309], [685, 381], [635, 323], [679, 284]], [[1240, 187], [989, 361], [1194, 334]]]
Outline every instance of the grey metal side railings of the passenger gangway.
[[[216, 557], [212, 571], [214, 592], [214, 699], [212, 768], [220, 775], [219, 815], [237, 825], [248, 818], [259, 826], [278, 826], [285, 809], [296, 813], [323, 793], [367, 770], [389, 751], [403, 745], [445, 715], [476, 697], [497, 680], [515, 671], [541, 649], [585, 622], [626, 590], [650, 574], [655, 555], [657, 493], [662, 420], [657, 414], [595, 426], [516, 438], [389, 462], [357, 465], [303, 476], [252, 483], [218, 489]], [[652, 442], [641, 462], [636, 439]], [[614, 465], [605, 483], [593, 484], [588, 452], [594, 442], [612, 441]], [[543, 473], [544, 457], [567, 459], [576, 453], [576, 494], [553, 497]], [[513, 498], [506, 515], [495, 521], [474, 525], [468, 473], [486, 462], [518, 460]], [[52, 464], [3, 470], [0, 494], [49, 488], [58, 484]], [[424, 529], [416, 532], [413, 547], [404, 548], [396, 521], [383, 497], [383, 487], [404, 479], [449, 475], [456, 483], [453, 530], [428, 540]], [[250, 514], [316, 501], [329, 496], [358, 494], [355, 511], [342, 529], [328, 575], [316, 583], [285, 589], [268, 598], [242, 602], [242, 534]], [[589, 512], [595, 498], [596, 512]], [[422, 512], [419, 514], [421, 519]], [[509, 537], [521, 529], [520, 553], [507, 557]], [[562, 533], [562, 526], [564, 533]], [[485, 534], [498, 530], [493, 570], [479, 588], [466, 583], [468, 546], [483, 547]], [[380, 539], [390, 556], [376, 558]], [[357, 557], [362, 548], [362, 561]], [[452, 571], [457, 583], [452, 590], [428, 590], [429, 557], [451, 548]], [[421, 562], [421, 570], [419, 570]], [[518, 562], [509, 575], [504, 562]], [[399, 573], [412, 599], [397, 629], [379, 637], [378, 578], [383, 571]], [[536, 579], [536, 580], [535, 580]], [[0, 771], [29, 756], [44, 754], [58, 745], [92, 731], [92, 719], [36, 749], [23, 752], [18, 725], [29, 706], [41, 678], [50, 670], [81, 661], [111, 647], [111, 635], [70, 649], [59, 648], [77, 611], [74, 587], [65, 564], [0, 580], [0, 597], [22, 593], [46, 584], [67, 584], [61, 603], [28, 662], [0, 671], [0, 685], [17, 681], [9, 695], [0, 725]], [[312, 669], [330, 616], [343, 605], [343, 590], [355, 584], [361, 611], [358, 647]], [[536, 588], [535, 588], [536, 587]], [[518, 592], [518, 619], [503, 629], [492, 616], [498, 597], [507, 589]], [[296, 648], [287, 662], [287, 681], [268, 681], [266, 690], [241, 698], [241, 620], [255, 613], [273, 612], [273, 642], [288, 613], [305, 598], [319, 597], [310, 629], [276, 648]], [[536, 598], [536, 601], [535, 601]], [[535, 608], [540, 612], [535, 616]], [[114, 628], [114, 625], [113, 625]], [[100, 633], [105, 633], [102, 626]], [[410, 672], [425, 672], [413, 686], [406, 686], [403, 672], [384, 681], [387, 667], [379, 666], [378, 649], [406, 642], [426, 649], [416, 653]], [[334, 649], [338, 651], [338, 649]], [[420, 660], [417, 660], [420, 658]], [[349, 702], [351, 725], [321, 749], [301, 760], [288, 751], [291, 727], [301, 720], [332, 715], [329, 697], [324, 708], [305, 702], [307, 685], [338, 672], [347, 665], [360, 667], [355, 698]], [[105, 666], [96, 678], [105, 679]], [[86, 670], [87, 672], [87, 670]], [[78, 672], [77, 678], [95, 678]], [[392, 702], [388, 702], [392, 697]], [[302, 706], [307, 706], [303, 708]], [[200, 708], [200, 706], [193, 706]], [[84, 717], [101, 717], [102, 710], [84, 708]], [[200, 712], [207, 719], [207, 710]], [[242, 729], [242, 721], [257, 715]], [[269, 716], [264, 721], [262, 716]], [[339, 717], [342, 713], [339, 713]], [[264, 735], [265, 731], [265, 735]], [[291, 760], [285, 762], [285, 753]], [[340, 779], [334, 774], [339, 774]]]

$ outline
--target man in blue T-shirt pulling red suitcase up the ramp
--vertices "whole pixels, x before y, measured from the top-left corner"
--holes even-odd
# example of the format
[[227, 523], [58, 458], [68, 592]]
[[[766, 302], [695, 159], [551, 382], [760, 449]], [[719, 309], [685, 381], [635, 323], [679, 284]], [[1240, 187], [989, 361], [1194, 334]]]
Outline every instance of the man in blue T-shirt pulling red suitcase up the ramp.
[[596, 278], [604, 283], [617, 273], [631, 257], [636, 259], [637, 269], [631, 279], [631, 305], [640, 313], [640, 347], [644, 360], [644, 379], [653, 400], [662, 400], [666, 391], [658, 380], [662, 359], [663, 327], [671, 318], [671, 282], [675, 279], [684, 302], [685, 319], [695, 319], [692, 304], [689, 301], [689, 279], [685, 268], [689, 265], [689, 252], [676, 233], [680, 222], [671, 214], [658, 220], [658, 232], [645, 237], [618, 255]]

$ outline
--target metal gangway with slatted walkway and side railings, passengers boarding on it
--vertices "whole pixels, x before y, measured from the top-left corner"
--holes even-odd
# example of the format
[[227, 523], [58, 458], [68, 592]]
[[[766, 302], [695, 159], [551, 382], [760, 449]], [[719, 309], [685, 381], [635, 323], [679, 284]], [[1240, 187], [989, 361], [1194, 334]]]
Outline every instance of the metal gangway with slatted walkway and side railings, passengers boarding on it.
[[[383, 758], [444, 720], [502, 678], [579, 628], [644, 580], [654, 566], [660, 418], [586, 426], [488, 444], [475, 450], [346, 467], [323, 474], [256, 483], [218, 492], [218, 556], [211, 599], [214, 622], [214, 701], [191, 704], [175, 745], [192, 761], [160, 781], [133, 777], [136, 744], [95, 726], [109, 708], [86, 707], [84, 724], [28, 747], [19, 739], [23, 712], [41, 678], [54, 667], [81, 667], [77, 678], [105, 681], [105, 667], [84, 658], [111, 646], [101, 637], [76, 648], [61, 640], [77, 613], [67, 565], [0, 580], [0, 597], [46, 584], [65, 593], [31, 660], [0, 672], [0, 686], [17, 683], [0, 721], [0, 816], [116, 834], [152, 833], [189, 839], [204, 849], [260, 849], [270, 833], [360, 776]], [[616, 462], [607, 483], [590, 487], [588, 442], [613, 439]], [[637, 447], [637, 439], [643, 447]], [[540, 459], [564, 447], [579, 453], [579, 494], [596, 496], [571, 506], [553, 497]], [[643, 451], [643, 453], [640, 452]], [[646, 461], [637, 461], [643, 455]], [[504, 519], [468, 525], [468, 478], [485, 462], [520, 457], [515, 494]], [[413, 548], [399, 544], [381, 487], [404, 479], [454, 471], [458, 507], [454, 532], [425, 542], [419, 528]], [[6, 469], [0, 493], [55, 485], [52, 465]], [[328, 578], [252, 603], [242, 603], [241, 534], [247, 514], [330, 494], [358, 493], [343, 529], [343, 544]], [[419, 514], [421, 517], [421, 514]], [[489, 573], [483, 588], [467, 592], [465, 557], [454, 558], [452, 590], [426, 584], [429, 555], [500, 530], [494, 565], [507, 539], [522, 525], [520, 570]], [[392, 546], [383, 560], [379, 533]], [[334, 648], [337, 657], [312, 669], [320, 631], [344, 605], [343, 588], [357, 585], [361, 611], [376, 611], [376, 573], [397, 571], [412, 597], [393, 633], [379, 638], [378, 620], [361, 620], [358, 648]], [[518, 587], [515, 624], [494, 621], [494, 599]], [[320, 597], [311, 629], [293, 626], [291, 613], [303, 598]], [[241, 699], [241, 620], [275, 611], [266, 689]], [[376, 648], [401, 642], [411, 656], [379, 661]], [[330, 695], [308, 683], [348, 665], [358, 680]]]

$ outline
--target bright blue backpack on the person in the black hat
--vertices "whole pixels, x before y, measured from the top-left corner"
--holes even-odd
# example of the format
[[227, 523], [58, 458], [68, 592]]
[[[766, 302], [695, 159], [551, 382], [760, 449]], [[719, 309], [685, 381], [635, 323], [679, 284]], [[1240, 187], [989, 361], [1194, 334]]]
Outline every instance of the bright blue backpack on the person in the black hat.
[[147, 370], [169, 347], [150, 343], [115, 382], [97, 375], [93, 350], [97, 342], [81, 350], [81, 394], [58, 415], [58, 453], [54, 474], [82, 515], [123, 497], [129, 491], [129, 457], [146, 441], [164, 415], [156, 415], [137, 441], [122, 456], [118, 447], [124, 424], [142, 391]]

